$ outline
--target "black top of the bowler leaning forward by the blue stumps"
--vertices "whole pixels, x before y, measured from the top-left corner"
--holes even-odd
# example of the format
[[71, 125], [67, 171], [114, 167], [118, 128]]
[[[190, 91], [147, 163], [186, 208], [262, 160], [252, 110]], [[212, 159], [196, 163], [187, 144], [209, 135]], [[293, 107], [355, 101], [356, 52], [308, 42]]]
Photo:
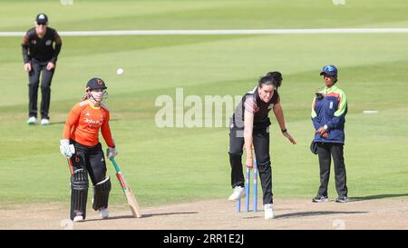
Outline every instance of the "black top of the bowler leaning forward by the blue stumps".
[[229, 126], [244, 128], [244, 113], [245, 111], [249, 111], [254, 114], [254, 129], [266, 128], [271, 124], [267, 115], [274, 105], [277, 104], [278, 98], [279, 94], [277, 90], [275, 90], [270, 101], [265, 103], [259, 98], [256, 87], [254, 90], [244, 94], [241, 102], [237, 105], [235, 113], [230, 119]]

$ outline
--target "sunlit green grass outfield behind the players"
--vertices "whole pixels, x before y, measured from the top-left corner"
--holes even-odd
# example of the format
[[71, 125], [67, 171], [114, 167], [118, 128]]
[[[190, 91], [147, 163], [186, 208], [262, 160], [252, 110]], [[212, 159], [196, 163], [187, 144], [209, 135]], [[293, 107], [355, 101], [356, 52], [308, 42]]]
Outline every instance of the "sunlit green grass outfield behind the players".
[[[403, 0], [346, 1], [344, 6], [328, 0], [0, 4], [0, 31], [23, 32], [40, 12], [59, 31], [408, 26]], [[1, 203], [68, 203], [69, 169], [59, 140], [68, 112], [93, 76], [109, 87], [117, 162], [141, 205], [227, 199], [228, 128], [158, 128], [155, 100], [174, 97], [177, 87], [202, 99], [240, 95], [271, 70], [284, 74], [279, 94], [287, 129], [298, 143], [287, 142], [271, 114], [274, 193], [311, 198], [319, 177], [317, 158], [308, 150], [314, 133], [309, 116], [325, 64], [337, 65], [338, 87], [348, 97], [349, 196], [408, 196], [408, 34], [63, 36], [49, 126], [25, 124], [28, 80], [20, 42], [21, 37], [0, 37]], [[117, 75], [120, 67], [124, 73]], [[113, 177], [111, 164], [108, 169]], [[119, 184], [113, 185], [112, 203], [122, 203]], [[334, 185], [332, 175], [332, 197]]]

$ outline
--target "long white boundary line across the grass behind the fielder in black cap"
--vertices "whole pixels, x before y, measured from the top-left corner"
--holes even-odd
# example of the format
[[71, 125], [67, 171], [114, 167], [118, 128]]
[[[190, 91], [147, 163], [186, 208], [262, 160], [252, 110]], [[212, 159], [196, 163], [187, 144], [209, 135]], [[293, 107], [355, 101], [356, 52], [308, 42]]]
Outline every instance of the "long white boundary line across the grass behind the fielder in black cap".
[[[321, 29], [225, 29], [225, 30], [111, 30], [62, 31], [62, 36], [105, 35], [318, 35], [318, 34], [408, 34], [408, 28], [321, 28]], [[21, 37], [24, 32], [0, 32], [0, 37]]]

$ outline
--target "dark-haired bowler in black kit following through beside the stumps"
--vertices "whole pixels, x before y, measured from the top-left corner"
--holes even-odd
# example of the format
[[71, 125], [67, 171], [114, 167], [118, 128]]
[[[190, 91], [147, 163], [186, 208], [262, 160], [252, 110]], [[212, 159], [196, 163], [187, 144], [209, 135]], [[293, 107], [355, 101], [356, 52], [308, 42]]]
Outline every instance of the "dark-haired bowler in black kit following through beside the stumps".
[[[247, 166], [252, 168], [253, 156], [252, 145], [254, 146], [257, 159], [257, 169], [263, 191], [263, 203], [265, 209], [265, 219], [273, 219], [272, 210], [272, 170], [269, 156], [269, 125], [267, 116], [270, 110], [274, 111], [277, 123], [282, 134], [292, 143], [296, 141], [287, 133], [285, 118], [280, 105], [280, 96], [277, 88], [282, 83], [282, 74], [271, 72], [262, 76], [254, 90], [242, 97], [235, 113], [230, 120], [229, 128], [229, 163], [231, 165], [231, 184], [234, 192], [229, 196], [229, 201], [237, 201], [245, 195], [245, 179], [242, 171], [243, 146], [247, 151]], [[248, 152], [249, 151], [249, 152]], [[249, 197], [249, 195], [247, 195]]]

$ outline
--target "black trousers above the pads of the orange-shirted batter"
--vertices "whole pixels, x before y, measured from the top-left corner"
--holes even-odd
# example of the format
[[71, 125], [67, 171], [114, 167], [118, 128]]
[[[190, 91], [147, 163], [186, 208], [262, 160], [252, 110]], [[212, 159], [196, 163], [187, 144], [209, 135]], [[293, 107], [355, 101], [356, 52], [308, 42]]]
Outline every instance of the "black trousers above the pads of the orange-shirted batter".
[[92, 184], [101, 183], [106, 177], [106, 163], [102, 151], [102, 144], [86, 146], [71, 140], [75, 147], [75, 154], [71, 157], [73, 171], [85, 169], [91, 177]]

